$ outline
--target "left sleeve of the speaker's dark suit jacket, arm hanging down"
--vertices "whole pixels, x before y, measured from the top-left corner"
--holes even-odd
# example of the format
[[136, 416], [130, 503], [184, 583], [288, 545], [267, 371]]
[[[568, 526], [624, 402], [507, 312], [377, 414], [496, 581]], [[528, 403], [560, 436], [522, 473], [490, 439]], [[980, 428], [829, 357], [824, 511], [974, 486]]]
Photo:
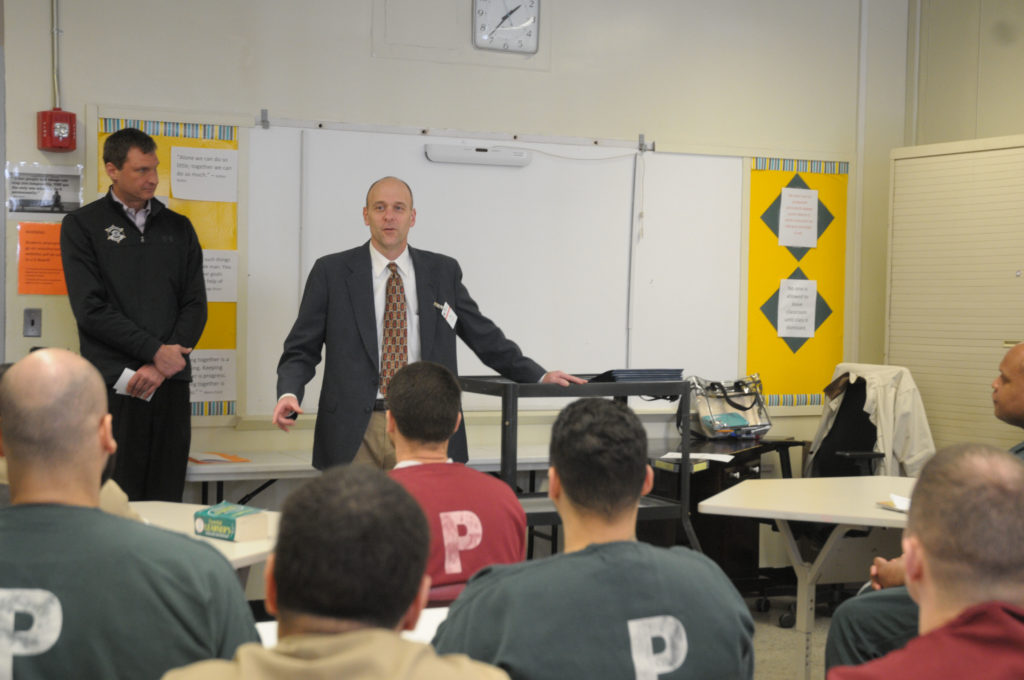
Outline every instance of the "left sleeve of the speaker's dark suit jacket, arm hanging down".
[[302, 401], [306, 383], [315, 375], [324, 350], [329, 298], [327, 277], [317, 261], [306, 280], [298, 316], [278, 362], [278, 396], [290, 392]]

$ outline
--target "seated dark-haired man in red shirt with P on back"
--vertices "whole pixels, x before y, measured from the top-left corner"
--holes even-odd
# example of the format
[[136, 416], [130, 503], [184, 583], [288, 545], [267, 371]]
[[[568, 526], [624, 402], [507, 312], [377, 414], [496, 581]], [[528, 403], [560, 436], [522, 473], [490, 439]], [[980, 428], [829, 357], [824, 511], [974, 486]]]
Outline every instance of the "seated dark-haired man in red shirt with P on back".
[[462, 388], [440, 364], [417, 362], [388, 387], [391, 477], [419, 501], [430, 524], [427, 573], [434, 602], [451, 602], [488, 564], [525, 558], [526, 514], [508, 484], [447, 458], [459, 428]]

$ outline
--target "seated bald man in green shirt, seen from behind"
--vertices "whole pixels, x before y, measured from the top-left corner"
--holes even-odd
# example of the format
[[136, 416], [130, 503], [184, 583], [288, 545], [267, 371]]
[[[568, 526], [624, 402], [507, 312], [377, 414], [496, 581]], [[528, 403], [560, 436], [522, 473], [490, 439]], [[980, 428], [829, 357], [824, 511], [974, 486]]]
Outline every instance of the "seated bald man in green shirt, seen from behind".
[[258, 639], [213, 547], [98, 509], [117, 449], [87, 360], [44, 349], [0, 380], [0, 677], [159, 678]]

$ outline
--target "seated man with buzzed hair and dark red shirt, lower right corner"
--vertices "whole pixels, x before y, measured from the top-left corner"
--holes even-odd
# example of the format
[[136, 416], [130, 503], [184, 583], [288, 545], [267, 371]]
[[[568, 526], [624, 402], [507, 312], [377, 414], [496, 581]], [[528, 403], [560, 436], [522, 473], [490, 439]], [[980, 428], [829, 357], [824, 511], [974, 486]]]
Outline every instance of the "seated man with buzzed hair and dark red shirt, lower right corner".
[[929, 461], [903, 533], [921, 635], [828, 680], [1024, 678], [1024, 463], [985, 444]]

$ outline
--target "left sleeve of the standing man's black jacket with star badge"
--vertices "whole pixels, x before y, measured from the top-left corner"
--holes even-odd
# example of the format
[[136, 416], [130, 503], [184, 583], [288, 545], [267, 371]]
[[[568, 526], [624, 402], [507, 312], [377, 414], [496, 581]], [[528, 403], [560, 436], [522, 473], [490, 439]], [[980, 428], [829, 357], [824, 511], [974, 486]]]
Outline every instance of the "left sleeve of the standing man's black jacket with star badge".
[[74, 213], [66, 216], [60, 226], [60, 259], [68, 299], [79, 328], [118, 351], [141, 362], [152, 360], [163, 343], [111, 304], [92, 243]]

